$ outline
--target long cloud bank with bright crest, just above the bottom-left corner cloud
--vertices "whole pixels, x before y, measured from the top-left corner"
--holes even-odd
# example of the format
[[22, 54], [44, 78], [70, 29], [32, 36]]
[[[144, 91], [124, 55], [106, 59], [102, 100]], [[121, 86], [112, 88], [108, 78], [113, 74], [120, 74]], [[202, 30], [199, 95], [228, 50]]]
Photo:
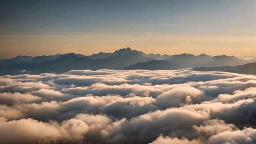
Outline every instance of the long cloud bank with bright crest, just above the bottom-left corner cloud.
[[149, 97], [87, 96], [70, 99], [65, 102], [51, 101], [16, 104], [8, 108], [14, 108], [23, 114], [22, 117], [26, 116], [40, 120], [45, 118], [64, 120], [72, 118], [79, 113], [103, 113], [116, 118], [131, 118], [160, 109], [154, 105], [154, 102], [155, 99]]

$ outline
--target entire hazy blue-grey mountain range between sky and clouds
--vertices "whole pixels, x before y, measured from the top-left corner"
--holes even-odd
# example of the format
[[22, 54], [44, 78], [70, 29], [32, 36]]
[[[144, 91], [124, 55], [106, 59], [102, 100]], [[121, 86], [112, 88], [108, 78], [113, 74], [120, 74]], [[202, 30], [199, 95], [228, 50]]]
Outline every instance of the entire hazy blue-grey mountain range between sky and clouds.
[[[42, 56], [17, 56], [0, 59], [0, 75], [20, 73], [62, 73], [70, 70], [176, 70], [194, 68], [203, 70], [206, 67], [236, 66], [254, 63], [256, 59], [244, 60], [235, 56], [207, 54], [145, 54], [141, 51], [121, 48], [113, 53], [55, 54]], [[203, 67], [199, 69], [199, 67]], [[220, 69], [220, 68], [219, 68]], [[231, 69], [231, 68], [230, 68]]]

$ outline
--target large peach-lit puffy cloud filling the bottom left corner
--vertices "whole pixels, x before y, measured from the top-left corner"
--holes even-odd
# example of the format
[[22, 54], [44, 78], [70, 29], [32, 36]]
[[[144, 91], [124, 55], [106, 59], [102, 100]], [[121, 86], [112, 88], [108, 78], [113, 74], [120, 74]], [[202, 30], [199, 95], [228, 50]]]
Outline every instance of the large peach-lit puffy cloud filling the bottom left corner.
[[55, 144], [75, 143], [83, 139], [89, 127], [79, 119], [69, 119], [58, 124], [37, 120], [19, 119], [7, 121], [0, 117], [0, 141], [2, 144]]

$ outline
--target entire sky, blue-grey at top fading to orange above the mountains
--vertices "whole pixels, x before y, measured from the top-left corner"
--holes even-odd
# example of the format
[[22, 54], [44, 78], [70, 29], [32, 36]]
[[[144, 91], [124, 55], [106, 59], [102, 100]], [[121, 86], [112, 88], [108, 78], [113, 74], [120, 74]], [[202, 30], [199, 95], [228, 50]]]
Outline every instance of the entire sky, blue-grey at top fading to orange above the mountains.
[[0, 55], [256, 56], [256, 0], [0, 0]]

